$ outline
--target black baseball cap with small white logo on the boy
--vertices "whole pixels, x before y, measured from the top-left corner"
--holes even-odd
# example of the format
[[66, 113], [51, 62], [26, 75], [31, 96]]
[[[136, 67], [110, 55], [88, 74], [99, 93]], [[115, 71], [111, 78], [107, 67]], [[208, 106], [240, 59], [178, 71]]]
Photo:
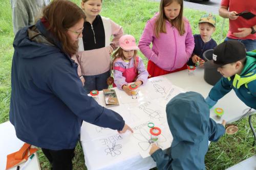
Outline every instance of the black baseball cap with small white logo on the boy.
[[245, 57], [246, 49], [244, 44], [237, 40], [228, 40], [214, 48], [211, 62], [216, 67], [221, 67], [242, 60]]

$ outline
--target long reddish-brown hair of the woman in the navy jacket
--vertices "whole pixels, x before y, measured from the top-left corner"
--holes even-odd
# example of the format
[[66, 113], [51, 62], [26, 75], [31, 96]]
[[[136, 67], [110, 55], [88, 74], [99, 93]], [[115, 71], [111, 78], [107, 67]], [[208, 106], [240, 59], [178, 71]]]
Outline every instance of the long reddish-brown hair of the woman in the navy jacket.
[[80, 19], [86, 19], [82, 9], [67, 0], [54, 0], [44, 9], [43, 17], [49, 22], [47, 30], [61, 42], [63, 52], [76, 54], [78, 43], [70, 41], [67, 29], [76, 25]]

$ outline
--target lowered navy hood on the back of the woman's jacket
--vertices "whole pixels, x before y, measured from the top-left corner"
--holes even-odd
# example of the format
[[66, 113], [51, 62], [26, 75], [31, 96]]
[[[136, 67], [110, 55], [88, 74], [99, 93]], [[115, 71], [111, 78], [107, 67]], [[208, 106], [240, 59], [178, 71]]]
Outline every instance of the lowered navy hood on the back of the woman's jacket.
[[[49, 37], [53, 36], [46, 31], [44, 25], [40, 20], [38, 20], [36, 25], [28, 26], [17, 32], [13, 41], [13, 47], [20, 57], [26, 59], [59, 53], [61, 51], [60, 43], [56, 39]], [[53, 43], [51, 43], [48, 39], [50, 39]], [[49, 45], [52, 47], [49, 48]]]

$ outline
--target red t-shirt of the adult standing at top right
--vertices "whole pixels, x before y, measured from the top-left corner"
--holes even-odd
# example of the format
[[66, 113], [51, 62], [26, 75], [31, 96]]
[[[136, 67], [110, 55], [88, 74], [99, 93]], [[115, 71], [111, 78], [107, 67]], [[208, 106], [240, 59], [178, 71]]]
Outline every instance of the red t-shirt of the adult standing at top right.
[[[229, 7], [228, 11], [236, 11], [241, 13], [243, 11], [249, 11], [256, 15], [256, 0], [222, 0], [221, 6]], [[256, 16], [247, 20], [239, 16], [236, 20], [229, 19], [229, 31], [227, 33], [228, 38], [237, 39], [233, 33], [239, 32], [238, 28], [251, 28], [256, 25]], [[255, 34], [249, 34], [244, 38], [239, 39], [256, 39]]]

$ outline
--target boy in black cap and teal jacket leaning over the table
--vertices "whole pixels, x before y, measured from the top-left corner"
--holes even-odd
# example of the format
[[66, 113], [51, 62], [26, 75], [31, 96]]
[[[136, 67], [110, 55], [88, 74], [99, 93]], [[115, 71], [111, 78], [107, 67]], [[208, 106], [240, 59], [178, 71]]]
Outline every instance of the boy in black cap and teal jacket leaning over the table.
[[239, 41], [225, 41], [212, 54], [212, 65], [223, 76], [209, 92], [207, 104], [212, 107], [232, 88], [247, 106], [256, 109], [256, 51], [247, 52]]

